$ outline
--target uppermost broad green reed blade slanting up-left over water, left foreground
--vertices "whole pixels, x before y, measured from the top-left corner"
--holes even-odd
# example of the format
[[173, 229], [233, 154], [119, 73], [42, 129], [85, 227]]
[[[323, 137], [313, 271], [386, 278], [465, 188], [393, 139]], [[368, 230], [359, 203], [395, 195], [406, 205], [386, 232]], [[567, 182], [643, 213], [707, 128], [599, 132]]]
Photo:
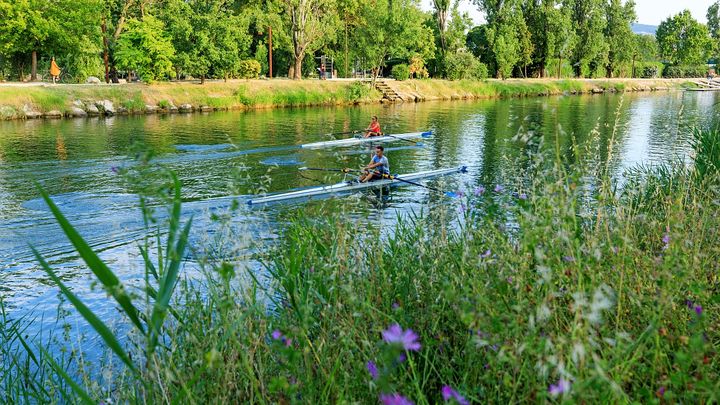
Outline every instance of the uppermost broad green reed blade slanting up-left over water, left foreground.
[[120, 304], [120, 307], [123, 311], [125, 311], [132, 323], [135, 324], [140, 332], [145, 334], [145, 328], [138, 316], [138, 310], [132, 304], [130, 296], [125, 292], [125, 288], [120, 283], [117, 276], [115, 276], [115, 273], [113, 273], [112, 270], [110, 270], [110, 268], [108, 268], [107, 265], [100, 260], [98, 255], [92, 250], [92, 248], [90, 248], [90, 245], [85, 242], [85, 239], [80, 236], [77, 230], [75, 230], [67, 218], [65, 218], [62, 212], [60, 212], [60, 209], [50, 199], [47, 192], [39, 185], [37, 188], [40, 191], [40, 195], [42, 195], [42, 198], [45, 200], [45, 203], [47, 203], [48, 207], [50, 207], [50, 211], [52, 211], [63, 232], [65, 232], [65, 235], [67, 235], [70, 242], [73, 246], [75, 246], [75, 249], [80, 254], [80, 257], [83, 258], [93, 274], [95, 274], [98, 280], [100, 280], [100, 282], [105, 286], [106, 290], [113, 296], [113, 298], [115, 298], [118, 304]]

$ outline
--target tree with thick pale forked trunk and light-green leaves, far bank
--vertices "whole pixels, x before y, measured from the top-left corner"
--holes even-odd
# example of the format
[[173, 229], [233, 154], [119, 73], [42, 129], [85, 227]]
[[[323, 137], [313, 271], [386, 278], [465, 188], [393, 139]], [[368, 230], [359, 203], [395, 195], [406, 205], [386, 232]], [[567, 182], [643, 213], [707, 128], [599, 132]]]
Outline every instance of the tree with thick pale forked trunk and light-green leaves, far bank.
[[305, 54], [313, 53], [332, 39], [339, 25], [335, 6], [334, 0], [285, 0], [286, 24], [292, 38], [293, 79], [302, 79]]

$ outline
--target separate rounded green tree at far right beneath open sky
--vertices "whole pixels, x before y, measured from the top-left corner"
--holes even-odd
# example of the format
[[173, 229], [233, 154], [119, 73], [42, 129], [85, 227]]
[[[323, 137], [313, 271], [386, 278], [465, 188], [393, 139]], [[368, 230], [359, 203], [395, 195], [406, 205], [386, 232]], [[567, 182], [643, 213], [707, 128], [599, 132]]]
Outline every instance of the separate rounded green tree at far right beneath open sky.
[[685, 10], [668, 17], [658, 26], [656, 37], [660, 56], [673, 65], [696, 65], [707, 62], [712, 46], [710, 33]]

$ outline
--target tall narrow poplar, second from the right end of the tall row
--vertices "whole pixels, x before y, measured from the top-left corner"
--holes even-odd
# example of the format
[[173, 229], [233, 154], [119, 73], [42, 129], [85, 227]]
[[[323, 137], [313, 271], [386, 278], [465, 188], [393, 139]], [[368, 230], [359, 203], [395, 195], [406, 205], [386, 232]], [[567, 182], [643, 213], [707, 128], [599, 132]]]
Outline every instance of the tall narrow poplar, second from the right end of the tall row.
[[598, 67], [607, 63], [603, 0], [571, 0], [567, 4], [572, 10], [577, 43], [582, 44], [574, 47], [571, 59], [573, 69], [578, 77], [590, 77]]

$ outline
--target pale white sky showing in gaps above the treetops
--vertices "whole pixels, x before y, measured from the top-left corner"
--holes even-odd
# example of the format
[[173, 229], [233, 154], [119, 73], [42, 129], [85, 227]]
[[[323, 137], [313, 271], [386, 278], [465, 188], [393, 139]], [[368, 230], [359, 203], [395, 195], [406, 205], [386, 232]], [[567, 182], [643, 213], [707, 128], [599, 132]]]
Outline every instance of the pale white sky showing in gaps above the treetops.
[[[421, 0], [423, 8], [430, 10], [432, 0]], [[701, 23], [707, 23], [705, 14], [713, 0], [635, 0], [635, 12], [640, 24], [659, 25], [664, 19], [684, 9], [690, 9], [693, 17]], [[483, 22], [483, 16], [470, 0], [460, 0], [460, 10], [470, 13], [476, 22]]]

